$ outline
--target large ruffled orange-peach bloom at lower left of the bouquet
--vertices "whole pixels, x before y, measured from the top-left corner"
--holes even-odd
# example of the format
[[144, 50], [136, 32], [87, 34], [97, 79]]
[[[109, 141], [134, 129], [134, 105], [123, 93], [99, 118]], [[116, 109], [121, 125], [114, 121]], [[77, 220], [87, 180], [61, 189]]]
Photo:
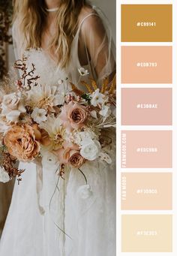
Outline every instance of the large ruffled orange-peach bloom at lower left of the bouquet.
[[4, 138], [10, 155], [20, 161], [31, 161], [37, 157], [40, 152], [40, 143], [35, 134], [38, 134], [36, 127], [13, 125]]

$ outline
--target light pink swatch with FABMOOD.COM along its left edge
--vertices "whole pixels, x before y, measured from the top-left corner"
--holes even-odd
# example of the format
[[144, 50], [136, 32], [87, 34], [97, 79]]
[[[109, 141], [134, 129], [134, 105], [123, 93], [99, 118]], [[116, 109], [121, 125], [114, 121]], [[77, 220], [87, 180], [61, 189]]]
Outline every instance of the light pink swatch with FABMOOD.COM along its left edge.
[[172, 131], [121, 131], [121, 168], [172, 167]]

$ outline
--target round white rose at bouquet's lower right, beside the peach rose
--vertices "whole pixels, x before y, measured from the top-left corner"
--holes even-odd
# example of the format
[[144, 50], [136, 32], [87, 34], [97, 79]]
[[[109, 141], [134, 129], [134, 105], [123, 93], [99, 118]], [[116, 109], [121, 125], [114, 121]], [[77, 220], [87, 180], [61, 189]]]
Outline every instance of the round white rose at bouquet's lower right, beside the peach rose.
[[80, 155], [89, 161], [93, 161], [100, 155], [101, 143], [98, 140], [85, 139], [82, 141]]

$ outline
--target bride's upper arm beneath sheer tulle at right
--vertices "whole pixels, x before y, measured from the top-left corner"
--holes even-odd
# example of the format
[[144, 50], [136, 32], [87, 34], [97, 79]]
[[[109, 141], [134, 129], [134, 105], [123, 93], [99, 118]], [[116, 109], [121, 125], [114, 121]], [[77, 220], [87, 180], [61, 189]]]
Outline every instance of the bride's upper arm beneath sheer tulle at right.
[[108, 76], [112, 80], [115, 75], [112, 38], [108, 38], [101, 18], [95, 15], [88, 17], [83, 23], [81, 35], [98, 80]]

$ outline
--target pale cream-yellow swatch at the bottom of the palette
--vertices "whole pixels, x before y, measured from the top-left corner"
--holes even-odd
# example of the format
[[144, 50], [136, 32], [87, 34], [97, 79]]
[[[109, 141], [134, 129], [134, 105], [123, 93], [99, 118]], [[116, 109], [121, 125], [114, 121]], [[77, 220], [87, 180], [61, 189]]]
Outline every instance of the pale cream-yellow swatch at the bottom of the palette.
[[172, 215], [122, 215], [121, 251], [172, 251]]

